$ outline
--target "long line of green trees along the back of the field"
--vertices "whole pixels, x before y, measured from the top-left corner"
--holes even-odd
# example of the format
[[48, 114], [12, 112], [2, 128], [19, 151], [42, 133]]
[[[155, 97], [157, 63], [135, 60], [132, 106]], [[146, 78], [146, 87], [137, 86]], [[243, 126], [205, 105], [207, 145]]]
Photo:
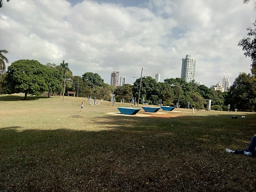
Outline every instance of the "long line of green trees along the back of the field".
[[[117, 102], [130, 102], [132, 97], [138, 98], [140, 78], [133, 85], [110, 86], [104, 83], [99, 74], [85, 72], [82, 76], [72, 75], [68, 63], [64, 60], [54, 63], [41, 64], [37, 60], [22, 59], [12, 62], [7, 71], [0, 73], [0, 94], [23, 92], [24, 99], [28, 94], [40, 95], [46, 93], [49, 97], [73, 91], [81, 97], [96, 97], [110, 100], [114, 94]], [[182, 78], [167, 78], [164, 82], [156, 82], [150, 76], [141, 78], [139, 103], [158, 105], [176, 105], [182, 108], [207, 108], [207, 100], [211, 99], [211, 109], [227, 110], [237, 108], [243, 111], [256, 110], [256, 78], [253, 75], [240, 73], [231, 85], [229, 91], [221, 92]]]

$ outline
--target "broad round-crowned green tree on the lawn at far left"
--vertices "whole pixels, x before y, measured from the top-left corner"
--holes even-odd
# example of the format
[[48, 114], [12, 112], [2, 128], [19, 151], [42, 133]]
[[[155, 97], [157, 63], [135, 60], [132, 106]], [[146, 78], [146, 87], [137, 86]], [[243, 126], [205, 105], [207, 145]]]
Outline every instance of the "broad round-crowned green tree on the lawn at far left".
[[12, 62], [7, 69], [4, 86], [7, 93], [24, 92], [39, 95], [47, 89], [47, 68], [37, 60], [22, 59]]

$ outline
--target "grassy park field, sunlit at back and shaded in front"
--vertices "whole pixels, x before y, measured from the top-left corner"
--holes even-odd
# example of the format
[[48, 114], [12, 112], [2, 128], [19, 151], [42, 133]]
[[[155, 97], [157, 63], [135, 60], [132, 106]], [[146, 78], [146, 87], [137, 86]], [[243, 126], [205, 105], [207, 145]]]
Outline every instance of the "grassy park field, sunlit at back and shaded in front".
[[256, 113], [124, 116], [106, 113], [130, 103], [81, 101], [0, 95], [0, 191], [256, 190], [256, 158], [225, 152], [248, 146]]

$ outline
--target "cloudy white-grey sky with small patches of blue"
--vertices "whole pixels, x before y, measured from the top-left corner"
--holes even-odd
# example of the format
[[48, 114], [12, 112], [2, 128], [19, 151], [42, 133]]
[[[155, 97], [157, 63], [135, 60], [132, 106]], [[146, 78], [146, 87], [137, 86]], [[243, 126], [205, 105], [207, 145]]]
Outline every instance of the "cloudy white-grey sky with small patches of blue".
[[[136, 77], [180, 77], [186, 54], [196, 59], [195, 81], [231, 84], [250, 72], [251, 60], [237, 43], [256, 19], [243, 0], [3, 0], [0, 49], [10, 65], [62, 60], [73, 75], [112, 71], [133, 84]], [[135, 78], [133, 78], [135, 76]]]

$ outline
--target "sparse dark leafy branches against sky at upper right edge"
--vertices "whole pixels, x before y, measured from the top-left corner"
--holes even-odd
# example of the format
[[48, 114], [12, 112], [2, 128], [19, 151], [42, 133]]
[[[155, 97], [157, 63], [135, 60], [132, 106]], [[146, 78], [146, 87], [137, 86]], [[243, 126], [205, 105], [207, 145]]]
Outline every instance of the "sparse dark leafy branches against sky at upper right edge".
[[243, 53], [245, 57], [250, 57], [252, 60], [252, 72], [256, 73], [256, 20], [253, 23], [254, 28], [248, 27], [246, 30], [247, 32], [247, 37], [242, 38], [238, 42], [238, 46], [242, 47], [242, 50], [245, 52]]

